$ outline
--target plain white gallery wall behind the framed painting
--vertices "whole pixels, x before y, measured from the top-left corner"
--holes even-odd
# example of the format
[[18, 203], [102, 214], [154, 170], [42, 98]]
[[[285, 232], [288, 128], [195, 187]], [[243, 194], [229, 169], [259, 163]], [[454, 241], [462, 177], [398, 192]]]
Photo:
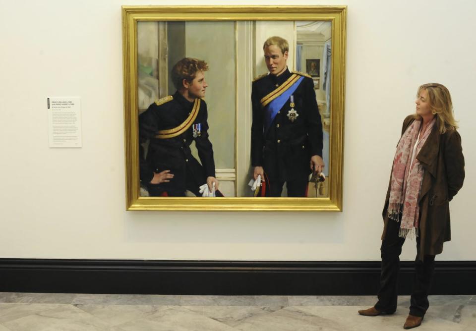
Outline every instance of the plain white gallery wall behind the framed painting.
[[[342, 213], [126, 212], [121, 5], [276, 0], [8, 1], [0, 11], [0, 258], [379, 260], [381, 211], [418, 85], [453, 97], [466, 157], [439, 260], [476, 260], [476, 2], [348, 5]], [[82, 148], [51, 149], [47, 97], [80, 97]], [[413, 260], [415, 240], [402, 259]]]

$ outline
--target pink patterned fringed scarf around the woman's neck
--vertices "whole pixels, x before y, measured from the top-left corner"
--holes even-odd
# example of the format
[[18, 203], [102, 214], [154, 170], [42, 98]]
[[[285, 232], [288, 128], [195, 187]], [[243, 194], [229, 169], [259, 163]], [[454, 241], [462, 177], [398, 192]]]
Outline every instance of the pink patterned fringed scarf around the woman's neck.
[[431, 120], [419, 140], [412, 160], [413, 148], [420, 133], [421, 122], [421, 120], [415, 120], [407, 128], [398, 142], [397, 152], [393, 160], [388, 216], [394, 221], [399, 221], [399, 216], [402, 215], [398, 235], [403, 238], [406, 238], [409, 233], [411, 238], [414, 234], [418, 236], [418, 198], [423, 180], [423, 167], [416, 156], [433, 129], [435, 119]]

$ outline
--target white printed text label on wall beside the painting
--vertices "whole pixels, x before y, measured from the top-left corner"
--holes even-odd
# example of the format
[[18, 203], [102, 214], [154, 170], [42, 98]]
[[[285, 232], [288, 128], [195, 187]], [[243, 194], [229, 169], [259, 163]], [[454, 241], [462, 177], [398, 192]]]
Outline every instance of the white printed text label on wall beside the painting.
[[81, 147], [81, 99], [48, 98], [50, 147]]

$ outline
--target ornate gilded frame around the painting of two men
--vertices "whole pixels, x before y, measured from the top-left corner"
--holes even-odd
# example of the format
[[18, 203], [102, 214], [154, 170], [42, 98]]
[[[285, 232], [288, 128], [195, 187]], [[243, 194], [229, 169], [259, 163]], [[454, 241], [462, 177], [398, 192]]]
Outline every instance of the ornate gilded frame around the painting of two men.
[[[329, 196], [326, 198], [142, 197], [138, 161], [138, 21], [330, 21]], [[342, 211], [347, 6], [122, 6], [126, 209], [163, 211]]]

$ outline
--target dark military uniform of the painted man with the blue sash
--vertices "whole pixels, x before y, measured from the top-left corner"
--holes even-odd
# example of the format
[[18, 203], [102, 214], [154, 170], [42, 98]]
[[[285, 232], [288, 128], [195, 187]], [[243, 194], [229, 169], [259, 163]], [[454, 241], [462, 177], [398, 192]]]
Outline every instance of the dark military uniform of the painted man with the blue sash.
[[[266, 111], [260, 100], [285, 83], [292, 73], [286, 69], [279, 76], [268, 74], [252, 84], [251, 165], [264, 168], [272, 197], [281, 196], [284, 182], [289, 197], [304, 197], [311, 172], [310, 158], [314, 155], [322, 157], [322, 122], [314, 82], [306, 74], [297, 74], [304, 77], [293, 92], [294, 105], [288, 100], [266, 133]], [[292, 108], [297, 112], [294, 121], [288, 117]]]

